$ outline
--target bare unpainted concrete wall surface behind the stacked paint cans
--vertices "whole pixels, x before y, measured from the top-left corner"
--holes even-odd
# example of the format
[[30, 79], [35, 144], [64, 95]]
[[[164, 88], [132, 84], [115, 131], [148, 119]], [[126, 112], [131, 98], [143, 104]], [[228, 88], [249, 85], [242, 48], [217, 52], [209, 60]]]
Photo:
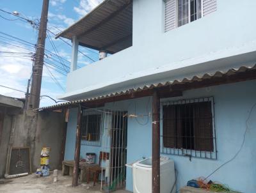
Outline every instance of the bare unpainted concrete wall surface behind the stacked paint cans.
[[[4, 116], [3, 134], [0, 141], [0, 178], [4, 176], [6, 156], [12, 128], [12, 116]], [[61, 112], [26, 111], [15, 115], [15, 132], [13, 147], [29, 147], [31, 152], [32, 171], [40, 168], [42, 147], [50, 147], [50, 166], [61, 168], [61, 146], [63, 132], [67, 128], [65, 115]]]

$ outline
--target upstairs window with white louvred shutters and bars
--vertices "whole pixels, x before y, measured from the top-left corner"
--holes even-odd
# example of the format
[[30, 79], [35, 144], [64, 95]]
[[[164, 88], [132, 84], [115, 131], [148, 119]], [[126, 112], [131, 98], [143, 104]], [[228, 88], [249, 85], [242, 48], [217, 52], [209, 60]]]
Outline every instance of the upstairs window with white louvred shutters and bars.
[[193, 22], [217, 10], [217, 0], [165, 0], [164, 31]]

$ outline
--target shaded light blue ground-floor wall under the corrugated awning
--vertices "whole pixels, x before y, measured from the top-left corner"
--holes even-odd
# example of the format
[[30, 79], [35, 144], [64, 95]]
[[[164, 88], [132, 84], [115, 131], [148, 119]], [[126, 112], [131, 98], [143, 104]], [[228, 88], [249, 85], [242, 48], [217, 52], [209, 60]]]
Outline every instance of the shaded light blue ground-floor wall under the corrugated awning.
[[[256, 81], [239, 82], [213, 86], [210, 88], [193, 89], [185, 91], [182, 97], [175, 97], [172, 100], [181, 98], [198, 98], [204, 96], [214, 97], [216, 143], [218, 150], [217, 160], [206, 160], [204, 158], [192, 158], [175, 155], [166, 155], [175, 161], [178, 174], [178, 189], [188, 180], [207, 176], [214, 169], [232, 158], [243, 141], [243, 134], [246, 128], [246, 119], [253, 104], [256, 103]], [[146, 115], [152, 112], [152, 99], [149, 97], [136, 100], [126, 100], [106, 104], [106, 108], [128, 111], [129, 114]], [[74, 113], [74, 116], [72, 115]], [[68, 123], [67, 143], [65, 158], [74, 158], [74, 141], [76, 128], [76, 111], [70, 112]], [[211, 176], [212, 181], [220, 181], [229, 185], [232, 189], [242, 192], [255, 192], [256, 185], [256, 107], [248, 119], [248, 132], [246, 133], [243, 149], [237, 157]], [[139, 123], [138, 123], [139, 121]], [[134, 118], [128, 120], [128, 141], [127, 141], [127, 163], [142, 157], [151, 156], [152, 146], [152, 125], [151, 118]], [[71, 128], [72, 127], [72, 128]], [[90, 151], [94, 151], [90, 149]], [[84, 147], [81, 147], [83, 154]], [[97, 150], [95, 150], [97, 151]], [[132, 173], [127, 168], [127, 189], [132, 190]]]

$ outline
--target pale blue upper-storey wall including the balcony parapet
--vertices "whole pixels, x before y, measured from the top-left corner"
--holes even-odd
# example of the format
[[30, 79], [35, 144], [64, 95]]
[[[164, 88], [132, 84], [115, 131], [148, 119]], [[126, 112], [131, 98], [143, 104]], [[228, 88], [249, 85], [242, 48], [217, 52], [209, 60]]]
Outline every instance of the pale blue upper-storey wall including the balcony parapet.
[[[217, 0], [216, 12], [166, 33], [163, 31], [163, 2], [134, 0], [132, 47], [69, 73], [67, 93], [62, 97], [92, 90], [96, 93], [96, 89], [116, 82], [134, 80], [129, 85], [123, 83], [122, 88], [138, 85], [141, 80], [135, 81], [136, 78], [154, 73], [170, 71], [166, 77], [184, 77], [184, 74], [195, 75], [255, 61], [256, 54], [225, 62], [217, 60], [256, 50], [255, 0]], [[214, 64], [207, 63], [214, 60], [217, 60]], [[194, 65], [198, 64], [204, 65], [196, 68]], [[171, 73], [187, 66], [191, 68]], [[156, 81], [157, 77], [159, 75], [146, 81]], [[108, 94], [109, 89], [105, 93]]]

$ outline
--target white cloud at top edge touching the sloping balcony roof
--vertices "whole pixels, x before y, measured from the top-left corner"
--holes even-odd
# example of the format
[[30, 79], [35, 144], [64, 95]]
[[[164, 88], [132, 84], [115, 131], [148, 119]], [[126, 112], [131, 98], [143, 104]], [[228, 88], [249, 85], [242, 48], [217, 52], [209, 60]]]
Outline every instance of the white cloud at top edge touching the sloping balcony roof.
[[102, 1], [103, 0], [81, 0], [79, 6], [74, 7], [74, 11], [77, 12], [80, 17], [83, 17]]

